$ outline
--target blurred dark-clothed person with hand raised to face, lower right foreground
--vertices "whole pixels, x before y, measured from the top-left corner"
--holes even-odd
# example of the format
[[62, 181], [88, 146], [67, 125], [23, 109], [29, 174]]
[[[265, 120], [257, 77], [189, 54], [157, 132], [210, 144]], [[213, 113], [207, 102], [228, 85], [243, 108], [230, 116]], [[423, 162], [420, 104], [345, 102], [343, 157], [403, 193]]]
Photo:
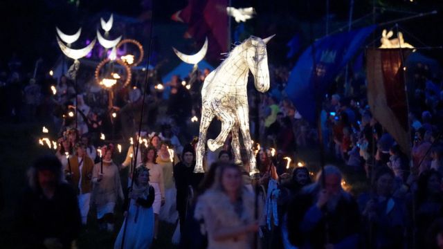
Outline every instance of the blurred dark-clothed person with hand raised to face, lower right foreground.
[[[322, 184], [322, 174], [325, 174], [325, 185]], [[291, 206], [295, 208], [288, 210], [287, 228], [289, 241], [294, 246], [357, 247], [359, 208], [352, 196], [341, 187], [341, 177], [337, 167], [327, 165], [318, 174], [316, 183], [304, 187], [293, 199]]]

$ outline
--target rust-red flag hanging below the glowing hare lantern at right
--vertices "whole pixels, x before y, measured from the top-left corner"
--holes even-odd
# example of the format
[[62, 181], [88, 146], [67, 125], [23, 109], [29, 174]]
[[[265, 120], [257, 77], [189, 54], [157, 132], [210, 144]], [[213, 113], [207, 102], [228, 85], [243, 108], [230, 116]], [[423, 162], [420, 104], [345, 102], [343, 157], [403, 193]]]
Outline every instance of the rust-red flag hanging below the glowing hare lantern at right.
[[367, 50], [368, 102], [372, 115], [410, 155], [404, 65], [406, 49]]

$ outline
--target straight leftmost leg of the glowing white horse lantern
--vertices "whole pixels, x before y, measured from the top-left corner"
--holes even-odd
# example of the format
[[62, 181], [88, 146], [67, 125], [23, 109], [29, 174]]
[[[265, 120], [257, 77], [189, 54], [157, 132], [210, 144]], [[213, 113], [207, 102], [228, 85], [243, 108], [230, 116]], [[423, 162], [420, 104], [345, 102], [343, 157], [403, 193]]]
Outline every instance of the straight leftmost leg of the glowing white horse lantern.
[[214, 113], [209, 108], [203, 107], [201, 109], [201, 121], [200, 121], [200, 130], [199, 130], [199, 142], [197, 142], [197, 158], [195, 163], [195, 173], [204, 172], [203, 169], [203, 158], [205, 154], [205, 142], [206, 142], [206, 132], [208, 131], [208, 127], [210, 122], [214, 118]]

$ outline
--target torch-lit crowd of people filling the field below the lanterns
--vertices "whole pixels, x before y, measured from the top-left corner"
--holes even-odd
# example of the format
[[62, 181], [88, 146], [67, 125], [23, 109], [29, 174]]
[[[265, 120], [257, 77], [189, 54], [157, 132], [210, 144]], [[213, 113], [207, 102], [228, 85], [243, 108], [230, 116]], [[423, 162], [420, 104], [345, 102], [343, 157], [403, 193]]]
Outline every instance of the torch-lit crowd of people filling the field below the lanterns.
[[[14, 90], [1, 115], [51, 120], [59, 137], [55, 156], [30, 168], [17, 210], [24, 233], [33, 234], [30, 248], [70, 248], [91, 218], [102, 232], [120, 229], [115, 248], [155, 246], [159, 222], [177, 224], [171, 241], [181, 248], [443, 248], [443, 91], [440, 72], [425, 64], [410, 79], [411, 153], [372, 117], [361, 79], [352, 79], [347, 95], [338, 81], [323, 102], [320, 127], [325, 151], [340, 167], [318, 174], [287, 167], [286, 157], [297, 162], [300, 149], [318, 145], [318, 132], [282, 93], [287, 68], [270, 66], [271, 93], [248, 91], [257, 176], [249, 174], [246, 148], [234, 158], [230, 136], [205, 155], [206, 173], [194, 173], [198, 122], [191, 118], [199, 116], [208, 71], [183, 79], [190, 89], [178, 76], [163, 84], [165, 92], [150, 84], [145, 103], [143, 87], [121, 89], [109, 110], [107, 93], [86, 75], [78, 86], [62, 76], [21, 87], [24, 77], [13, 69], [0, 79], [1, 93]], [[9, 101], [14, 94], [24, 103]], [[209, 137], [219, 129], [211, 124]], [[100, 140], [102, 133], [111, 139]], [[129, 138], [125, 160], [114, 161], [116, 142]], [[368, 190], [344, 189], [340, 168], [363, 174]], [[120, 202], [124, 221], [115, 228]]]

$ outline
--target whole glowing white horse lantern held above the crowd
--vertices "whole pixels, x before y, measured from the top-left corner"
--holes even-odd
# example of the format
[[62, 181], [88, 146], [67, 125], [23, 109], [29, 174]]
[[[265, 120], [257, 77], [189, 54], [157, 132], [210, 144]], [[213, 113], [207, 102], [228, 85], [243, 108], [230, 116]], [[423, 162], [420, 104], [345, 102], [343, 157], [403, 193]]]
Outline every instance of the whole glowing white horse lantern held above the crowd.
[[228, 133], [232, 131], [233, 150], [236, 160], [240, 158], [239, 130], [242, 132], [244, 147], [248, 151], [250, 174], [258, 170], [255, 167], [255, 156], [252, 151], [251, 134], [249, 133], [249, 108], [246, 84], [251, 71], [255, 88], [264, 93], [269, 90], [268, 57], [266, 43], [272, 38], [261, 39], [249, 37], [229, 53], [215, 71], [205, 79], [201, 89], [201, 122], [199, 142], [197, 144], [197, 163], [194, 172], [204, 172], [206, 132], [210, 122], [217, 116], [221, 120], [221, 132], [217, 138], [208, 140], [208, 148], [215, 151], [222, 145]]

